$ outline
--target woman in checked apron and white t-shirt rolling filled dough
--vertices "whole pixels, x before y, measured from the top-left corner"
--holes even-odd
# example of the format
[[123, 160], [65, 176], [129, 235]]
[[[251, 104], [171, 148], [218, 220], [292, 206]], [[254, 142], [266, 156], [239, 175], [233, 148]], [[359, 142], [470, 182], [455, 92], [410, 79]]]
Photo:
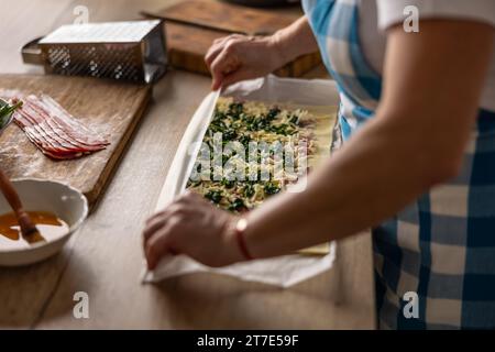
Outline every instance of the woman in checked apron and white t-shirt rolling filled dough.
[[[405, 31], [406, 6], [419, 10], [419, 32]], [[273, 36], [216, 41], [206, 56], [212, 89], [320, 50], [341, 91], [343, 147], [306, 190], [243, 219], [191, 194], [178, 198], [146, 223], [150, 268], [169, 253], [222, 266], [373, 227], [381, 328], [494, 328], [495, 2], [304, 8]], [[417, 319], [403, 315], [406, 292], [419, 296]]]

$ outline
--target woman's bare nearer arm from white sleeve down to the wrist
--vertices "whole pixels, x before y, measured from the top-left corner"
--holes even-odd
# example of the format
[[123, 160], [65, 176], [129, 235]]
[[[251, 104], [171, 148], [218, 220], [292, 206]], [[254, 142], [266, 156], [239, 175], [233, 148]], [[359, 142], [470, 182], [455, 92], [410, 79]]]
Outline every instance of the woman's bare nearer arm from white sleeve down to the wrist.
[[[309, 175], [306, 190], [280, 195], [248, 216], [251, 254], [286, 254], [367, 229], [453, 177], [492, 42], [490, 28], [465, 22], [426, 22], [420, 36], [400, 26], [389, 31], [383, 98], [373, 121]], [[454, 75], [446, 85], [444, 77]]]

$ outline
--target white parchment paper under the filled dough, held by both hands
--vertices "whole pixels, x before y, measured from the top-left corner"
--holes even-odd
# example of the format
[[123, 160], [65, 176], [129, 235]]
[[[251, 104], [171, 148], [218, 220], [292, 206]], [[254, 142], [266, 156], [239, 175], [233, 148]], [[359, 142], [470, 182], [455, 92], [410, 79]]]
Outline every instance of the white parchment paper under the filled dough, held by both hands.
[[[242, 97], [246, 100], [292, 102], [305, 106], [339, 105], [339, 95], [334, 82], [326, 79], [305, 80], [277, 78], [270, 75], [233, 85], [221, 95]], [[184, 191], [218, 97], [219, 92], [209, 94], [189, 122], [162, 188], [156, 210], [166, 207]], [[162, 258], [155, 271], [150, 272], [144, 268], [142, 280], [143, 283], [155, 283], [167, 277], [210, 272], [234, 276], [242, 280], [289, 287], [330, 270], [334, 258], [334, 243], [331, 243], [329, 253], [323, 256], [293, 254], [238, 263], [221, 268], [205, 266], [185, 255], [166, 256]]]

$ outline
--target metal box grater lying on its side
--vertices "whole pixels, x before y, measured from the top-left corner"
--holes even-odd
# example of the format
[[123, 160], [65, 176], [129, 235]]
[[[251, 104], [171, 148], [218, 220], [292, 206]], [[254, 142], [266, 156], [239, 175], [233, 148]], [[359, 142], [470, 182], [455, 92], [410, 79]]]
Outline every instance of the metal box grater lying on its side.
[[153, 82], [167, 66], [162, 21], [63, 25], [22, 48], [46, 74]]

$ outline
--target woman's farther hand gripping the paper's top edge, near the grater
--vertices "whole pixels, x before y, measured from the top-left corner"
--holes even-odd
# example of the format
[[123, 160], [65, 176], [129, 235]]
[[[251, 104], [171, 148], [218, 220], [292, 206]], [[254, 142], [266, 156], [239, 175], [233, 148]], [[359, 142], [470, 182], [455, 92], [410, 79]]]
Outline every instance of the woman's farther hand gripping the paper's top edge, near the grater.
[[213, 42], [205, 56], [211, 72], [211, 89], [237, 81], [265, 76], [283, 66], [284, 57], [278, 41], [272, 36], [232, 34]]

